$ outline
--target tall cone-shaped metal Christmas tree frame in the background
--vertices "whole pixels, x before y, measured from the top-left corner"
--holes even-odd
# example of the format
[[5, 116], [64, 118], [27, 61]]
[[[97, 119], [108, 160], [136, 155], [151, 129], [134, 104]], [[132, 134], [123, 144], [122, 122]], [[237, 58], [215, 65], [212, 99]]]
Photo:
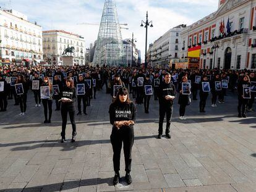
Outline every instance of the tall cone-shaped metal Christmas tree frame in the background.
[[116, 3], [106, 0], [96, 41], [94, 65], [124, 65], [124, 47], [118, 22]]

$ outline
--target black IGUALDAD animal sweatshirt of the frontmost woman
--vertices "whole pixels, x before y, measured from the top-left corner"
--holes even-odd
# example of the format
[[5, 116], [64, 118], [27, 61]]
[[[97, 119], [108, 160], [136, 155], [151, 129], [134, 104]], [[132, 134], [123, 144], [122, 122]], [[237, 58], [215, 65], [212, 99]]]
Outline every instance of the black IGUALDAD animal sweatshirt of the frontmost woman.
[[[135, 122], [137, 109], [133, 102], [113, 102], [109, 106], [109, 120], [111, 125], [116, 121], [133, 120]], [[132, 125], [130, 125], [132, 126]]]

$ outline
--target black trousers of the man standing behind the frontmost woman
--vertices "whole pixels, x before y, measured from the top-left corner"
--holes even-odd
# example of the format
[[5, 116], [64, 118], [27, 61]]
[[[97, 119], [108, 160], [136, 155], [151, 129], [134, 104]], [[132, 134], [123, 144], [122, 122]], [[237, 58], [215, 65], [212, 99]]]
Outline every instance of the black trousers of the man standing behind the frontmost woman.
[[173, 114], [173, 106], [165, 106], [164, 104], [160, 104], [159, 106], [159, 128], [158, 134], [163, 135], [163, 121], [164, 116], [166, 114], [166, 130], [165, 133], [168, 134], [170, 132], [171, 126], [171, 115]]

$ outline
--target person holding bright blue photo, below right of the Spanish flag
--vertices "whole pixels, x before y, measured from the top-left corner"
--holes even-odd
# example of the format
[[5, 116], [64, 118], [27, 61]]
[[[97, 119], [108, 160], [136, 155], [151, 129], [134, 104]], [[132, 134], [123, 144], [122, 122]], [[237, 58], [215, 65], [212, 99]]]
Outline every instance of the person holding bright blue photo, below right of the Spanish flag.
[[[200, 102], [199, 102], [199, 109], [200, 112], [205, 112], [205, 106], [208, 98], [208, 93], [210, 92], [210, 83], [208, 81], [208, 77], [206, 75], [203, 75], [202, 81], [199, 84], [200, 91]], [[207, 85], [207, 88], [205, 87]]]

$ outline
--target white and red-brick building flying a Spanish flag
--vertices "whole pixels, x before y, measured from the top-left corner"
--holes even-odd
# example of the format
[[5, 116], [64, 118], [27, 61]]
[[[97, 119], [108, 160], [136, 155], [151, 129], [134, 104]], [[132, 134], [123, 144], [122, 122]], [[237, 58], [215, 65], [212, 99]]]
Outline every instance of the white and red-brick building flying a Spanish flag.
[[181, 57], [197, 57], [201, 69], [255, 69], [255, 8], [252, 0], [219, 0], [216, 12], [182, 31]]

